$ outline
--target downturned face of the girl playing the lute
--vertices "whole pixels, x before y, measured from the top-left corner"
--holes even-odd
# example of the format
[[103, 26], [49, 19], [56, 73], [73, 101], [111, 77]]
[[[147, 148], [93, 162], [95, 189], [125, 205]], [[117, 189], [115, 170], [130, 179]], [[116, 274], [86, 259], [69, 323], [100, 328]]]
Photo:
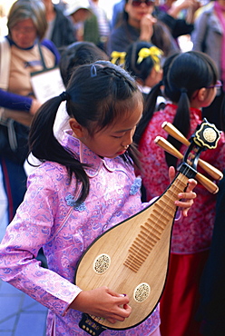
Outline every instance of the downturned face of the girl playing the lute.
[[[140, 97], [140, 96], [139, 96]], [[131, 114], [124, 117], [92, 136], [85, 129], [80, 140], [90, 148], [93, 153], [102, 157], [114, 158], [125, 153], [132, 143], [132, 136], [142, 117], [143, 104], [141, 99], [136, 99]], [[74, 132], [75, 133], [75, 132]]]

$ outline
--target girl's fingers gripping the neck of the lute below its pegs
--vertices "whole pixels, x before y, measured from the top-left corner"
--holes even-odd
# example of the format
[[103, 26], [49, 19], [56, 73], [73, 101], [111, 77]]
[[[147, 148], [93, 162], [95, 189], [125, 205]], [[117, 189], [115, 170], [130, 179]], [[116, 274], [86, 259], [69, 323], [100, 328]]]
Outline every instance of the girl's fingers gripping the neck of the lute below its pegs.
[[[169, 168], [169, 177], [170, 181], [172, 181], [175, 178], [174, 167]], [[191, 205], [194, 203], [193, 200], [197, 197], [196, 193], [193, 192], [193, 189], [196, 187], [196, 185], [197, 182], [194, 179], [189, 179], [186, 191], [178, 194], [180, 201], [175, 201], [175, 204], [180, 208], [182, 208], [181, 212], [184, 217], [188, 216], [189, 209], [191, 208]]]

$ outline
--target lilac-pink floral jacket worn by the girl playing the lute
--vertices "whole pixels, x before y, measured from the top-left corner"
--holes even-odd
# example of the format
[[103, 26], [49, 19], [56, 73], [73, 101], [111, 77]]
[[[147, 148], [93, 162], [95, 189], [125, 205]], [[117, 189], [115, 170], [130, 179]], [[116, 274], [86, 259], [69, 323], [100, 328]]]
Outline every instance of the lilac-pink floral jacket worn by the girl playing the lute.
[[[24, 203], [7, 227], [0, 245], [0, 277], [49, 309], [47, 335], [87, 335], [78, 322], [81, 312], [68, 309], [81, 292], [73, 284], [82, 253], [105, 230], [142, 210], [141, 179], [121, 157], [101, 159], [69, 133], [64, 145], [92, 164], [90, 193], [75, 206], [72, 183], [64, 166], [46, 162], [28, 179]], [[146, 205], [146, 204], [145, 204]], [[41, 247], [48, 269], [34, 257]], [[103, 335], [150, 335], [160, 324], [158, 308], [139, 326], [127, 331], [103, 331]]]

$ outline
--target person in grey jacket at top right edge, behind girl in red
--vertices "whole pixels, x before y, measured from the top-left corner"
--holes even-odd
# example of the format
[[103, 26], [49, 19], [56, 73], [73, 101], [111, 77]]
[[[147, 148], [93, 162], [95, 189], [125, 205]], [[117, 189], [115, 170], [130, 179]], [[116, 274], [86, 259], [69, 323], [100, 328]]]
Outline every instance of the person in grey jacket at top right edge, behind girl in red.
[[217, 64], [220, 81], [216, 98], [210, 106], [202, 109], [202, 114], [221, 130], [220, 109], [225, 93], [225, 1], [211, 1], [196, 18], [191, 34], [193, 50], [199, 50]]

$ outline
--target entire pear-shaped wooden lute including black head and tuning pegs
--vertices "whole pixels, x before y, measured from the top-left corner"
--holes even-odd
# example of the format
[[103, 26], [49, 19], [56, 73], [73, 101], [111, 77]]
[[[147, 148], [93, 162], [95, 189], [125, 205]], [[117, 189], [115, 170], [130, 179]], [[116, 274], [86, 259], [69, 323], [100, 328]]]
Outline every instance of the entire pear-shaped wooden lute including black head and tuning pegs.
[[[179, 141], [189, 141], [172, 125], [163, 125], [175, 133]], [[160, 138], [160, 139], [157, 139]], [[206, 119], [191, 136], [191, 145], [184, 155], [170, 143], [157, 137], [155, 142], [168, 153], [182, 160], [179, 172], [168, 189], [142, 212], [121, 222], [96, 239], [83, 254], [75, 273], [75, 284], [84, 291], [102, 286], [129, 296], [131, 315], [125, 321], [111, 324], [101, 317], [83, 314], [79, 326], [91, 335], [98, 336], [105, 329], [124, 330], [142, 323], [160, 301], [166, 281], [170, 257], [171, 230], [176, 213], [175, 201], [187, 186], [188, 179], [196, 177], [210, 193], [217, 193], [217, 186], [197, 172], [197, 162], [203, 150], [215, 148], [220, 131]], [[222, 174], [213, 166], [201, 161], [213, 178]]]

